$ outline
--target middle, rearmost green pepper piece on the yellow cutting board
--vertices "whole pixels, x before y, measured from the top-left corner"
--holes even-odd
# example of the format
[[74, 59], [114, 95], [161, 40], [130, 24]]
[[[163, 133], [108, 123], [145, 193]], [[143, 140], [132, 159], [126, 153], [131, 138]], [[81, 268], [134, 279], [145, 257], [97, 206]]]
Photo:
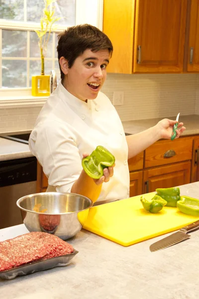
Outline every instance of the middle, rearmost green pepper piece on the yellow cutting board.
[[177, 201], [180, 199], [180, 189], [178, 187], [173, 188], [158, 188], [156, 189], [156, 195], [159, 195], [167, 201], [167, 206], [176, 207]]

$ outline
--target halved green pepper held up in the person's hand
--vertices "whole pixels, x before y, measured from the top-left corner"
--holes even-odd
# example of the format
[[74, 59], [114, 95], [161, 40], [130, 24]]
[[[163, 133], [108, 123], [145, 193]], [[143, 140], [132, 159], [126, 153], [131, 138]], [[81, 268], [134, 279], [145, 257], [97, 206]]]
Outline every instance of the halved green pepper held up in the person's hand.
[[89, 156], [82, 159], [85, 172], [92, 178], [99, 179], [103, 169], [114, 164], [115, 157], [104, 147], [98, 146]]

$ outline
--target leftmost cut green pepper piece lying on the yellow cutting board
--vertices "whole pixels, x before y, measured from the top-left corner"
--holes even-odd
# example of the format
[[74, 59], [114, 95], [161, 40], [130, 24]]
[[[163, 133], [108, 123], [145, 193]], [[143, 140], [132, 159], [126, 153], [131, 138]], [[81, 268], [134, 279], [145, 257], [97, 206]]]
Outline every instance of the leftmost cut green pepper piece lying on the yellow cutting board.
[[146, 198], [144, 198], [144, 196], [141, 196], [140, 201], [146, 211], [154, 214], [162, 210], [163, 206], [167, 204], [167, 201], [158, 195], [155, 195], [150, 200], [147, 200]]

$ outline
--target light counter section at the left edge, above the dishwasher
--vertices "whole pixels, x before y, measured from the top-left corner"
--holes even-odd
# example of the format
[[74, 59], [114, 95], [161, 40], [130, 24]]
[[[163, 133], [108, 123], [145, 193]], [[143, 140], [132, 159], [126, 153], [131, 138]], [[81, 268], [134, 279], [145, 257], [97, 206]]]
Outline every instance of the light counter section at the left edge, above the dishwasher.
[[32, 157], [28, 145], [0, 138], [0, 161]]

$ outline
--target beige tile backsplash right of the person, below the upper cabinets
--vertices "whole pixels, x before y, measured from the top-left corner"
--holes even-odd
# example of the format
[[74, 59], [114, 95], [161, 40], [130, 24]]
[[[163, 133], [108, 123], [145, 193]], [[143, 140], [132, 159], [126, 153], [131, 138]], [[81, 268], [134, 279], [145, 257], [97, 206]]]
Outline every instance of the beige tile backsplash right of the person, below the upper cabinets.
[[[108, 74], [102, 91], [124, 91], [124, 105], [116, 106], [122, 121], [196, 113], [198, 74]], [[198, 81], [198, 82], [197, 82]], [[199, 114], [199, 107], [198, 107]]]

